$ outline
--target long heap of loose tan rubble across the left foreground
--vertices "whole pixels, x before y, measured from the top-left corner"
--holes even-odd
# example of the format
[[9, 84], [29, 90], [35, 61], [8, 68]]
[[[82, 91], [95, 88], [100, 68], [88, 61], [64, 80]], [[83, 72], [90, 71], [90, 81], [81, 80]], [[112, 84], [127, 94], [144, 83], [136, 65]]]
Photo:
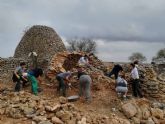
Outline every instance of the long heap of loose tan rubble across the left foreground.
[[[25, 91], [0, 90], [0, 115], [13, 119], [31, 121], [32, 124], [109, 124], [110, 118], [79, 110], [67, 99], [58, 100], [44, 96], [34, 96]], [[115, 117], [112, 124], [130, 124], [128, 120]], [[117, 123], [120, 122], [120, 123]]]

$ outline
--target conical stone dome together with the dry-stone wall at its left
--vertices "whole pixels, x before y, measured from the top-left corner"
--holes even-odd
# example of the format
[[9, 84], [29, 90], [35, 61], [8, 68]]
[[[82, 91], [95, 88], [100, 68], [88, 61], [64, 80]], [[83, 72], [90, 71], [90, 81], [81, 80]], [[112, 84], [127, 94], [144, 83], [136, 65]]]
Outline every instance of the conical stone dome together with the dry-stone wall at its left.
[[26, 62], [29, 66], [33, 65], [34, 56], [29, 56], [32, 52], [37, 53], [37, 65], [46, 69], [52, 56], [62, 51], [66, 51], [66, 48], [54, 29], [35, 25], [22, 37], [14, 57], [0, 58], [0, 79], [3, 82], [11, 79], [14, 69], [21, 61]]

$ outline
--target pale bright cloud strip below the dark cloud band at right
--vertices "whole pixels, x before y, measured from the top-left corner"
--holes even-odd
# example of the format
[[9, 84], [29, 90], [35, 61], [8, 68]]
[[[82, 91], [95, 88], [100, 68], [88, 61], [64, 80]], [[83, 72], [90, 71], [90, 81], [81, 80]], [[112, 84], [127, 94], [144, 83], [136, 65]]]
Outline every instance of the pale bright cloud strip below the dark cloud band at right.
[[107, 42], [104, 40], [96, 40], [96, 43], [98, 47], [97, 55], [101, 60], [107, 62], [127, 62], [128, 57], [135, 52], [142, 53], [146, 56], [147, 62], [151, 62], [152, 57], [165, 46], [163, 42]]

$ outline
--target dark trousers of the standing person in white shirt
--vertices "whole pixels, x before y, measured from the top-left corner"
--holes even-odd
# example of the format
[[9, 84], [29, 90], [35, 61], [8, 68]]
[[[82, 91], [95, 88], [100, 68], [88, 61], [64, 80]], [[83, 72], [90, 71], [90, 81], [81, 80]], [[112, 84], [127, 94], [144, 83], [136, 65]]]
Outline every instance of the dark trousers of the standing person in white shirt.
[[132, 90], [133, 90], [133, 96], [135, 97], [143, 97], [140, 89], [140, 81], [139, 79], [133, 79], [132, 80]]

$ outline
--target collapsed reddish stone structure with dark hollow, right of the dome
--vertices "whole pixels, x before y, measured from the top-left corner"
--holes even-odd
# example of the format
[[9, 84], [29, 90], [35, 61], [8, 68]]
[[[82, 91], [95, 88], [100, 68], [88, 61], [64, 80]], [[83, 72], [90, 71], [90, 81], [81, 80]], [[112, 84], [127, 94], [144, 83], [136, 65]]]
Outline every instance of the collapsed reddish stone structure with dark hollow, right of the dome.
[[[59, 72], [72, 71], [77, 69], [78, 60], [85, 53], [81, 52], [60, 52], [54, 55], [51, 60], [50, 66], [48, 67], [47, 77], [49, 79], [54, 79], [55, 75]], [[86, 67], [85, 71], [92, 77], [95, 83], [108, 82], [111, 79], [104, 76], [103, 70], [106, 69], [102, 61], [100, 61], [94, 55], [88, 55], [91, 67]]]

